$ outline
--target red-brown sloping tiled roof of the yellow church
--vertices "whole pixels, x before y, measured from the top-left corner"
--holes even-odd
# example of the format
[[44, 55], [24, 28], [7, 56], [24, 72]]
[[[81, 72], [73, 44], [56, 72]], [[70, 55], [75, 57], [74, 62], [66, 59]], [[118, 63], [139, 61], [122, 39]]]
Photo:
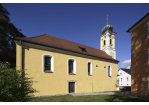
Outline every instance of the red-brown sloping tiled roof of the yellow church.
[[[111, 56], [109, 56], [106, 52], [102, 50], [98, 50], [89, 46], [85, 46], [79, 43], [75, 43], [72, 41], [68, 41], [65, 39], [57, 38], [51, 35], [43, 34], [35, 37], [13, 37], [13, 40], [22, 40], [25, 42], [30, 42], [34, 44], [40, 44], [44, 46], [59, 48], [63, 50], [73, 51], [85, 55], [100, 57], [104, 59], [109, 59], [112, 61], [117, 61], [116, 59], [113, 59]], [[82, 51], [81, 48], [85, 48], [86, 52]], [[119, 62], [119, 61], [117, 61]]]

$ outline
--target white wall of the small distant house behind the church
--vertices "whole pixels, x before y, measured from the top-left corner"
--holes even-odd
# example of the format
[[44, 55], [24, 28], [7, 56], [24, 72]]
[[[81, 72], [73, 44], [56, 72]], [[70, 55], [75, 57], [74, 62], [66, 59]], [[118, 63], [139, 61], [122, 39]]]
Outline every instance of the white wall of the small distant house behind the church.
[[[126, 73], [123, 70], [119, 70], [118, 74], [120, 76], [118, 76], [118, 80], [119, 80], [119, 86], [131, 86], [131, 75]], [[127, 81], [127, 77], [128, 77], [128, 81]], [[122, 81], [121, 81], [122, 78]]]

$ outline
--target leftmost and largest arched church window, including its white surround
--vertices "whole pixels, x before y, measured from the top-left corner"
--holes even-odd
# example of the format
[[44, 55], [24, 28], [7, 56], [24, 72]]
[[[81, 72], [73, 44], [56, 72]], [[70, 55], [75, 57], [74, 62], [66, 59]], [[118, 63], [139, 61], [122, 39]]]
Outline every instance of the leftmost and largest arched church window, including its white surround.
[[54, 73], [54, 57], [50, 54], [43, 54], [42, 60], [42, 71], [44, 73]]

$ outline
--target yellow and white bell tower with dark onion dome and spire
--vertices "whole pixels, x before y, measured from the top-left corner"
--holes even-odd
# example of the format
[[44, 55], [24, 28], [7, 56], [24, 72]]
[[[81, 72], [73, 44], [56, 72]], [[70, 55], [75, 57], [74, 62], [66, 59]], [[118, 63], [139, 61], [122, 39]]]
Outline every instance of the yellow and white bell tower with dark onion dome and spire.
[[102, 35], [99, 36], [100, 49], [116, 59], [115, 35], [117, 33], [113, 32], [113, 26], [108, 24], [108, 15], [106, 21], [107, 25], [102, 28]]

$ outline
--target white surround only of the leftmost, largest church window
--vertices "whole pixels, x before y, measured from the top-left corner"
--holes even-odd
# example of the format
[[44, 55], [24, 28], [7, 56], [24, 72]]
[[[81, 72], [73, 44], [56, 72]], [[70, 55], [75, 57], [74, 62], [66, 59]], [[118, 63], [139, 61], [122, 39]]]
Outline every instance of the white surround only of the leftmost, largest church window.
[[50, 55], [50, 54], [43, 54], [42, 55], [42, 72], [46, 73], [46, 72], [44, 72], [44, 64], [45, 64], [44, 58], [45, 58], [45, 56], [51, 57], [51, 71], [54, 73], [54, 56]]

